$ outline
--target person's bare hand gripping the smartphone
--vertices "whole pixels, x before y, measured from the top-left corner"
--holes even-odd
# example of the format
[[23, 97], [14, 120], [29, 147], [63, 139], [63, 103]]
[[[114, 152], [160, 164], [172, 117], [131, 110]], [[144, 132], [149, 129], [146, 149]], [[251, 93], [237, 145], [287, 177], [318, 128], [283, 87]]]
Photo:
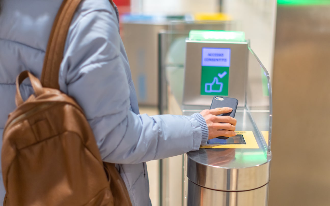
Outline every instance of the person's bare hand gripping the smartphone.
[[219, 114], [226, 114], [233, 111], [230, 107], [219, 107], [215, 109], [205, 109], [200, 112], [206, 121], [209, 129], [209, 139], [218, 136], [231, 137], [235, 136], [236, 119], [230, 116], [216, 116]]

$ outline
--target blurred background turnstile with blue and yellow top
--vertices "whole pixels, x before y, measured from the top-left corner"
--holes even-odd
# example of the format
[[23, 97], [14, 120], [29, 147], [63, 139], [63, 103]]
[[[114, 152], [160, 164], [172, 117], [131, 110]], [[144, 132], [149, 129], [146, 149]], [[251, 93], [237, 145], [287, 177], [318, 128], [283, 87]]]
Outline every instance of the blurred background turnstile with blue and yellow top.
[[[218, 15], [220, 16], [220, 15]], [[129, 59], [132, 79], [139, 105], [158, 105], [158, 33], [166, 30], [180, 31], [182, 37], [191, 29], [236, 30], [238, 22], [228, 21], [227, 16], [218, 20], [193, 21], [191, 15], [151, 16], [125, 15], [122, 18], [121, 36]], [[189, 20], [186, 20], [189, 19]], [[170, 37], [169, 37], [170, 38]], [[183, 39], [184, 40], [184, 39]], [[168, 40], [171, 41], [171, 40]], [[179, 45], [179, 51], [181, 51]], [[173, 56], [172, 63], [183, 61], [183, 53]], [[180, 58], [181, 57], [181, 58]], [[169, 57], [171, 58], [171, 57]]]

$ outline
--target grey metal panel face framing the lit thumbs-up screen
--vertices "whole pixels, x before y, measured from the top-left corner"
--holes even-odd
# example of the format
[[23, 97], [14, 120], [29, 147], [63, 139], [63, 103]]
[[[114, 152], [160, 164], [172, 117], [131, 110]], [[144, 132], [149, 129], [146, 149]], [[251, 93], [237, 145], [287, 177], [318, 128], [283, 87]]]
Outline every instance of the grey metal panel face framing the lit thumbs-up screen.
[[248, 43], [202, 42], [186, 40], [186, 59], [184, 68], [183, 104], [210, 105], [213, 95], [201, 95], [202, 48], [230, 48], [228, 97], [236, 98], [238, 106], [245, 105], [245, 85], [248, 64]]

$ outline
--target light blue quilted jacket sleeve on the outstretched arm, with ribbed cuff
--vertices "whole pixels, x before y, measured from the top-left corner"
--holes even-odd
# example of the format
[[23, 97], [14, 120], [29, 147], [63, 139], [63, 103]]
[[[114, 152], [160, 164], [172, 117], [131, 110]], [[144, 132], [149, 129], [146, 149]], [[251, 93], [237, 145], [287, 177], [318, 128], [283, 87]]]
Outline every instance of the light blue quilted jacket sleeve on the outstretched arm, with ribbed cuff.
[[200, 114], [148, 116], [131, 111], [130, 74], [118, 30], [110, 4], [80, 11], [71, 24], [59, 78], [61, 90], [83, 108], [103, 160], [139, 163], [197, 150], [208, 138]]

